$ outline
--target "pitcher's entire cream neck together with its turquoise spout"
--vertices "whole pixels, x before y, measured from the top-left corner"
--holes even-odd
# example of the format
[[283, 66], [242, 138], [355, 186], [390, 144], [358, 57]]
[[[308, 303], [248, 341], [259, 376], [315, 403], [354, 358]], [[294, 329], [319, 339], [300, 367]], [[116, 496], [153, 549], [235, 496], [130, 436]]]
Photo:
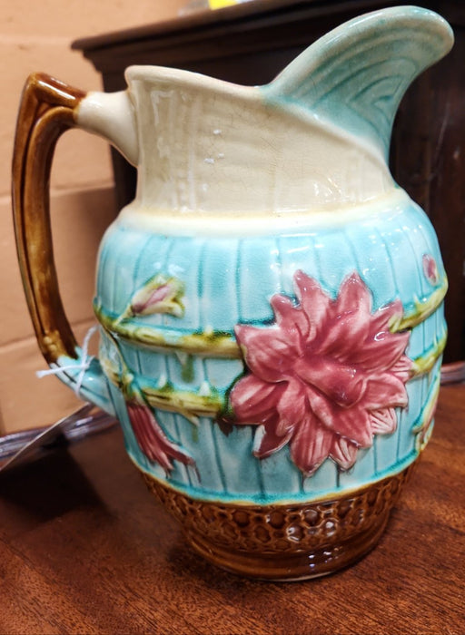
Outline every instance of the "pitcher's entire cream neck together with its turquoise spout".
[[452, 44], [439, 15], [384, 9], [331, 31], [265, 86], [131, 66], [128, 90], [91, 93], [79, 122], [138, 167], [135, 207], [147, 215], [354, 208], [397, 189], [388, 155], [401, 97]]

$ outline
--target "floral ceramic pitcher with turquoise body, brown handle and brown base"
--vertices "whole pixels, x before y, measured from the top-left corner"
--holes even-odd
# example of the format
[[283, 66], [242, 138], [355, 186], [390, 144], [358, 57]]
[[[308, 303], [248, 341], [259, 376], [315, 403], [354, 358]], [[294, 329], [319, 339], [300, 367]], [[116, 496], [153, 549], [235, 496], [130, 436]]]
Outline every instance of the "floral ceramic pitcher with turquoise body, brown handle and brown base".
[[[152, 66], [128, 68], [121, 93], [26, 84], [15, 225], [39, 345], [118, 417], [193, 547], [233, 572], [355, 562], [428, 441], [447, 282], [388, 152], [402, 94], [451, 44], [439, 15], [397, 7], [341, 25], [265, 86]], [[138, 171], [99, 252], [92, 359], [65, 318], [47, 202], [74, 126]]]

